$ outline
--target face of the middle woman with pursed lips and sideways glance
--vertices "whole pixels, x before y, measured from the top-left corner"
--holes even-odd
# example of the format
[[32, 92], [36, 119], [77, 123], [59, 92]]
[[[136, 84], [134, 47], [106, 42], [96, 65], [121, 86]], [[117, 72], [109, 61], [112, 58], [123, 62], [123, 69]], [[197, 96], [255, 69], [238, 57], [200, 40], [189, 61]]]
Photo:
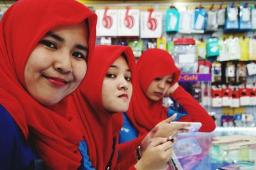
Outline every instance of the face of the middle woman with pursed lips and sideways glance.
[[124, 112], [132, 96], [131, 70], [120, 56], [109, 67], [102, 84], [102, 104], [109, 113]]

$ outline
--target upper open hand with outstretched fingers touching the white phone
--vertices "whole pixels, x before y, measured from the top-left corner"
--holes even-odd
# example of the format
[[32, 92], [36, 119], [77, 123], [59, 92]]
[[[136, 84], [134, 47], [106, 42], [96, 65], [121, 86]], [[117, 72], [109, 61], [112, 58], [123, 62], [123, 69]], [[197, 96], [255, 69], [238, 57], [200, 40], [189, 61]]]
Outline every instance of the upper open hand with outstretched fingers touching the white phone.
[[184, 127], [188, 127], [190, 124], [170, 124], [170, 122], [172, 122], [176, 117], [177, 114], [175, 113], [174, 115], [172, 115], [172, 117], [166, 118], [165, 120], [157, 124], [156, 127], [158, 127], [158, 130], [157, 132], [155, 132], [154, 138], [168, 138], [175, 133], [186, 132], [186, 130], [184, 130]]

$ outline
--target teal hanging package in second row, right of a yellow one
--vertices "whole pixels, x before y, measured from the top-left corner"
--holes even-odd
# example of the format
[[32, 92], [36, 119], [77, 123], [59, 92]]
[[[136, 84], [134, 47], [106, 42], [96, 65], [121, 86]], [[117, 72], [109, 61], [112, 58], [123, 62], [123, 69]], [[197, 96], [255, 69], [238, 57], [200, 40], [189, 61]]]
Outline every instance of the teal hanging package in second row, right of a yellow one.
[[209, 38], [206, 43], [206, 57], [219, 55], [218, 38]]

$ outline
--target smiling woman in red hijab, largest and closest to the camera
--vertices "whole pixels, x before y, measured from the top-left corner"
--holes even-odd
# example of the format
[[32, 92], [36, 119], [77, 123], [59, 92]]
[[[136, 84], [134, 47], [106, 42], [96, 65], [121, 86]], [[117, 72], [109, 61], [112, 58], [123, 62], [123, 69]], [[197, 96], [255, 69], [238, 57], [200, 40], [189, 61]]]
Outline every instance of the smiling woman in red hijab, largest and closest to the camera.
[[[74, 0], [20, 0], [0, 22], [1, 169], [78, 169], [81, 132], [52, 111], [77, 89], [97, 16]], [[38, 160], [39, 159], [39, 160]], [[40, 160], [42, 159], [42, 160]]]

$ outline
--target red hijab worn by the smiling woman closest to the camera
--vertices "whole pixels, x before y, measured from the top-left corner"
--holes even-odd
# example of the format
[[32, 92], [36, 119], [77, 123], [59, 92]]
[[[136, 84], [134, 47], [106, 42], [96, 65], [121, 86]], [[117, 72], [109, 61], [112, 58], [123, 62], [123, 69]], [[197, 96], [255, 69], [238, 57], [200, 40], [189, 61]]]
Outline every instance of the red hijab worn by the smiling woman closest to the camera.
[[71, 115], [60, 115], [29, 96], [25, 90], [24, 68], [30, 53], [48, 31], [58, 25], [78, 24], [86, 18], [92, 55], [97, 16], [77, 1], [20, 0], [10, 6], [0, 22], [0, 104], [8, 110], [25, 138], [31, 136], [47, 169], [80, 166], [81, 132], [74, 127]]

